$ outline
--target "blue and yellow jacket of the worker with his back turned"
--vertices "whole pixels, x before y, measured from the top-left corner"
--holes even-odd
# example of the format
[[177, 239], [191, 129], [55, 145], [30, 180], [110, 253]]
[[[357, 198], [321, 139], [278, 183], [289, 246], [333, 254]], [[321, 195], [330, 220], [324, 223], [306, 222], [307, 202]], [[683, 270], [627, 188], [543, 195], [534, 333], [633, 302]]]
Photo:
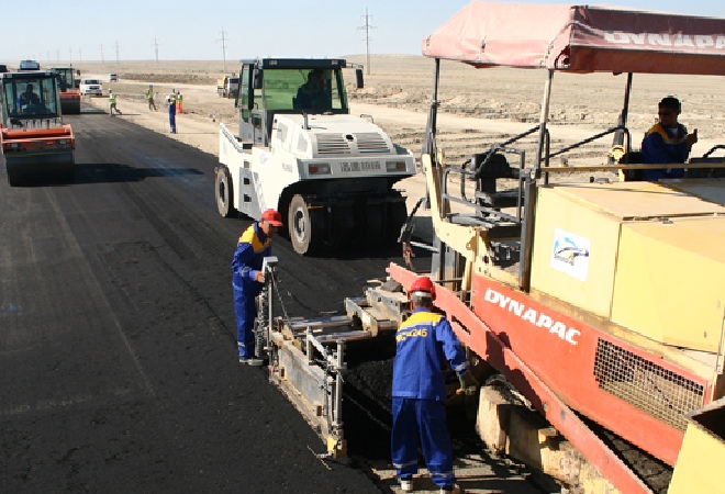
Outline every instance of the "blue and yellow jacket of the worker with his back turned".
[[468, 370], [450, 323], [425, 307], [417, 307], [395, 333], [392, 395], [417, 400], [446, 400], [443, 372], [446, 360], [458, 375]]

